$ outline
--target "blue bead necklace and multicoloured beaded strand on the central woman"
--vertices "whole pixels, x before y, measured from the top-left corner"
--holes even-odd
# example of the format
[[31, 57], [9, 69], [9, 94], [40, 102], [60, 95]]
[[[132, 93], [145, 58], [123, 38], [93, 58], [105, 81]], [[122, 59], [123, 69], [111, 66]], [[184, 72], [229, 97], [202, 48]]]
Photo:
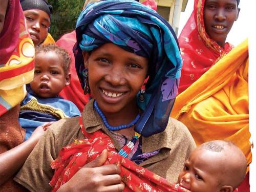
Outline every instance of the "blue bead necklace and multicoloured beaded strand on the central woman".
[[[139, 118], [140, 118], [140, 115], [138, 114], [136, 116], [136, 118], [132, 122], [130, 122], [129, 124], [123, 124], [123, 125], [119, 125], [119, 126], [111, 126], [108, 123], [108, 121], [106, 120], [106, 117], [104, 116], [103, 112], [99, 109], [99, 105], [98, 105], [96, 100], [94, 100], [93, 105], [94, 105], [95, 110], [98, 112], [99, 116], [103, 120], [104, 125], [111, 131], [118, 131], [118, 130], [122, 130], [122, 129], [125, 129], [125, 128], [129, 128], [129, 127], [135, 125], [138, 122]], [[123, 157], [127, 157], [131, 153], [131, 151], [133, 150], [134, 145], [135, 145], [137, 139], [139, 139], [139, 138], [140, 138], [140, 134], [135, 132], [135, 136], [132, 138], [132, 140], [129, 141], [126, 145], [124, 145], [121, 148], [121, 150], [118, 152], [118, 154], [123, 156]]]

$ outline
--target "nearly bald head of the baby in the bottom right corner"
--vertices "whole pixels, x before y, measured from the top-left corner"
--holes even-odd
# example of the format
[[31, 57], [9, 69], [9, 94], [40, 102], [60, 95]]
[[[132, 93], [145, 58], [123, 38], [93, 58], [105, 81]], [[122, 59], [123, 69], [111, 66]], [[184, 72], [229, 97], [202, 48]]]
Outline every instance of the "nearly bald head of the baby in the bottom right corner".
[[186, 160], [179, 185], [193, 192], [232, 192], [244, 180], [246, 158], [229, 141], [209, 141], [198, 146]]

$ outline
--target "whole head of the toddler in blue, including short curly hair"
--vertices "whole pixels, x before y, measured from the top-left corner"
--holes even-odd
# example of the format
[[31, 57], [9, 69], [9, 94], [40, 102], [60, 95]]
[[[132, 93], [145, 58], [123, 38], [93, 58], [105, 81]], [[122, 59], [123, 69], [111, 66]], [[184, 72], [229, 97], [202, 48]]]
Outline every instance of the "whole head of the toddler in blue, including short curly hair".
[[70, 84], [71, 58], [67, 51], [56, 45], [42, 45], [35, 53], [32, 91], [39, 97], [55, 97]]

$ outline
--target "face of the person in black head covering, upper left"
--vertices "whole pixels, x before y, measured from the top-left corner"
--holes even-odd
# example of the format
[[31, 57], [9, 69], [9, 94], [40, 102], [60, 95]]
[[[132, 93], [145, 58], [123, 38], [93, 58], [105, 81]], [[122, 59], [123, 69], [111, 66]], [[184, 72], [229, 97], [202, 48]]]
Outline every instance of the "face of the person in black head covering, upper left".
[[34, 46], [38, 46], [48, 35], [50, 17], [45, 11], [39, 9], [26, 10], [24, 15]]

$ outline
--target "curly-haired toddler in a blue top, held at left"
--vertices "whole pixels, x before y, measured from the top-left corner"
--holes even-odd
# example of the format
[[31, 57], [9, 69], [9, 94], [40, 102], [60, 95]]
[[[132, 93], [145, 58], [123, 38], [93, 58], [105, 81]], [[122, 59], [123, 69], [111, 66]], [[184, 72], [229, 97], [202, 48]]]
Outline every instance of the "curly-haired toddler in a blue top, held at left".
[[48, 122], [80, 115], [73, 102], [58, 96], [70, 83], [70, 62], [69, 54], [56, 45], [36, 49], [34, 79], [27, 86], [28, 95], [19, 113], [19, 123], [26, 129], [25, 140], [44, 123], [45, 129], [51, 124]]

